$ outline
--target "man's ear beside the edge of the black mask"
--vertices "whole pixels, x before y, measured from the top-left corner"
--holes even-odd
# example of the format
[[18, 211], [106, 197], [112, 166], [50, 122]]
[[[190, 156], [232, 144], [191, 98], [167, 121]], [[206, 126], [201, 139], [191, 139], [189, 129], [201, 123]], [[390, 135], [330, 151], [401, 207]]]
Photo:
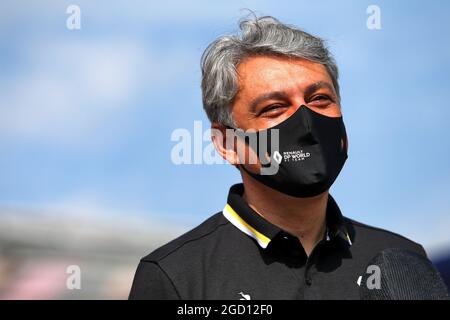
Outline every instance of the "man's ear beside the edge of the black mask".
[[222, 158], [234, 166], [239, 164], [233, 129], [227, 130], [226, 126], [213, 122], [211, 124], [211, 141]]

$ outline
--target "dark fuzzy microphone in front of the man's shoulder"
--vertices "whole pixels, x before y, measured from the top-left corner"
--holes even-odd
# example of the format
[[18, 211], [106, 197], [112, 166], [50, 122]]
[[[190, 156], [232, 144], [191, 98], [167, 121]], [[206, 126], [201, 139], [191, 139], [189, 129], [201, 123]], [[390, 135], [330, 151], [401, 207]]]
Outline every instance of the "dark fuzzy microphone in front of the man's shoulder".
[[381, 251], [359, 279], [362, 300], [450, 300], [430, 260], [400, 248]]

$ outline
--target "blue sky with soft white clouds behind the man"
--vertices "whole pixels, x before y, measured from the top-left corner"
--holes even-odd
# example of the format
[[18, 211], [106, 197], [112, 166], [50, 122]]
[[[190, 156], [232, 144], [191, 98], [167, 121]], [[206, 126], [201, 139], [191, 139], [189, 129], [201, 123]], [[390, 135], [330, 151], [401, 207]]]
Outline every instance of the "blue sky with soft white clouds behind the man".
[[[80, 29], [67, 28], [70, 5]], [[450, 247], [443, 0], [2, 1], [0, 208], [186, 229], [221, 211], [237, 170], [176, 165], [171, 137], [209, 128], [200, 57], [245, 9], [326, 39], [337, 60], [349, 158], [330, 192], [343, 214]]]

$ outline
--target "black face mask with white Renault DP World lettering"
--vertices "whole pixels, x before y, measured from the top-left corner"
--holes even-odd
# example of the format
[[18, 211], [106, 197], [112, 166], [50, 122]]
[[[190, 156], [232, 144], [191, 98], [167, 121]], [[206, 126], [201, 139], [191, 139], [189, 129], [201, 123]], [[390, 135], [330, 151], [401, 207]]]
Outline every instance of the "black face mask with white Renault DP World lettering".
[[[254, 150], [261, 171], [255, 174], [239, 166], [264, 185], [294, 197], [328, 190], [347, 159], [342, 116], [327, 117], [303, 105], [272, 128], [253, 133], [238, 129], [236, 135]], [[257, 142], [256, 150], [251, 141]]]

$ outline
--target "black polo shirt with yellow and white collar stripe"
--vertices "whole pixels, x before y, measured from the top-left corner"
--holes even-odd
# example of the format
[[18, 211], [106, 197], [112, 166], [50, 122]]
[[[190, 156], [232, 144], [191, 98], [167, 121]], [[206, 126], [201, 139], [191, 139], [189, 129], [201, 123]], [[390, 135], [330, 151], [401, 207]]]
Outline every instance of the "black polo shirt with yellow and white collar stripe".
[[231, 187], [219, 212], [142, 258], [130, 299], [359, 299], [358, 278], [386, 248], [426, 255], [398, 234], [342, 216], [328, 197], [327, 232], [308, 257]]

